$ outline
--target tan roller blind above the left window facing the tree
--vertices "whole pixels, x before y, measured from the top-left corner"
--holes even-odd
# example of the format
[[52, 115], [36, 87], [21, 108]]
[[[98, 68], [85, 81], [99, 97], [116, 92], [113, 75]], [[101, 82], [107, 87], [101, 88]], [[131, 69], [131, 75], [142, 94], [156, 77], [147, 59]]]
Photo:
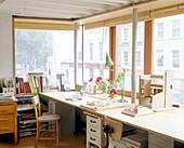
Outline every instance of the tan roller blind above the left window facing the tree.
[[15, 29], [34, 30], [74, 30], [71, 21], [39, 19], [39, 18], [14, 18]]

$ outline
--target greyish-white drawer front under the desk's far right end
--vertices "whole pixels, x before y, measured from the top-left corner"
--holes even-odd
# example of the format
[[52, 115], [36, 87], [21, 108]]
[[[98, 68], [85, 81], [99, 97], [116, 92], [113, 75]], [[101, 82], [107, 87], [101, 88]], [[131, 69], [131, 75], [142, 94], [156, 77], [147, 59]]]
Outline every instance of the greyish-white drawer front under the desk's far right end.
[[161, 148], [173, 148], [174, 146], [173, 139], [154, 133], [148, 134], [148, 143], [157, 145]]

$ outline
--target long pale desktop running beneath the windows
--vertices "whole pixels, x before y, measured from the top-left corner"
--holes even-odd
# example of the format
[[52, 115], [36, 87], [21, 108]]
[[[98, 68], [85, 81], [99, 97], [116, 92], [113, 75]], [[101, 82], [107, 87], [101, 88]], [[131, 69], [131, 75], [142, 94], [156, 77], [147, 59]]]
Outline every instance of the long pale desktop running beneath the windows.
[[155, 112], [153, 115], [134, 118], [122, 115], [121, 108], [103, 111], [88, 110], [87, 108], [81, 107], [81, 105], [86, 105], [87, 100], [92, 100], [94, 97], [87, 95], [83, 96], [82, 100], [70, 102], [65, 100], [63, 94], [65, 94], [65, 92], [40, 93], [40, 95], [43, 95], [55, 102], [61, 102], [101, 117], [106, 116], [115, 121], [119, 121], [147, 132], [156, 133], [180, 143], [184, 143], [184, 109]]

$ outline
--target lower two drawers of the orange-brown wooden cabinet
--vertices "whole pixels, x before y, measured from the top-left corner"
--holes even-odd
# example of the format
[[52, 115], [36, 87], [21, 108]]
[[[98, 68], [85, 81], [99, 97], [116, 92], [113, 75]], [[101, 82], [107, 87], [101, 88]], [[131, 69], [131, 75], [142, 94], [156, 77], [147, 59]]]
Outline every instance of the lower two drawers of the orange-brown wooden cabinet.
[[14, 132], [14, 116], [0, 116], [0, 134]]

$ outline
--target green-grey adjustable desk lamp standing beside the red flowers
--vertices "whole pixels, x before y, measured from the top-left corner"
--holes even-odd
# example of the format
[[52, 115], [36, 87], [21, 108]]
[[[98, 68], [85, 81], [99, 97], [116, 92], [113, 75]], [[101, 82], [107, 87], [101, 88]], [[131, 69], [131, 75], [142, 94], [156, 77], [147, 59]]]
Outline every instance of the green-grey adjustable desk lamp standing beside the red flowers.
[[122, 68], [119, 64], [117, 63], [114, 63], [110, 58], [110, 56], [108, 55], [108, 53], [106, 53], [106, 63], [105, 63], [105, 66], [108, 66], [108, 67], [111, 67], [114, 64], [116, 64], [118, 67], [120, 67], [121, 69], [123, 69], [123, 78], [122, 78], [122, 83], [121, 83], [121, 99], [119, 99], [119, 102], [127, 102], [123, 99], [123, 95], [124, 95], [124, 92], [123, 92], [123, 88], [124, 88], [124, 73], [126, 73], [126, 69]]

